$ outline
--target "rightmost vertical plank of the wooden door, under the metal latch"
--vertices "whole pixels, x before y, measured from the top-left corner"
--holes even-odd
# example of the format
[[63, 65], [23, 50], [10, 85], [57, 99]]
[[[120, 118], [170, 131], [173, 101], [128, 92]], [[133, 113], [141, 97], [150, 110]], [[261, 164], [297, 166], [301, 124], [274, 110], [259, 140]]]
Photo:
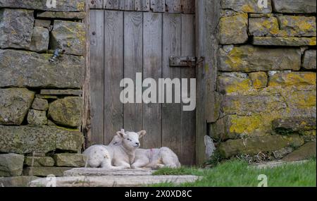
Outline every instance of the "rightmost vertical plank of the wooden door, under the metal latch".
[[[182, 14], [181, 56], [195, 56], [194, 16]], [[190, 78], [196, 78], [195, 68], [181, 68], [181, 78], [187, 78], [187, 93], [190, 95]], [[182, 86], [183, 87], [183, 86]], [[195, 88], [196, 90], [196, 88]], [[196, 97], [194, 97], [196, 98]], [[182, 104], [183, 106], [184, 104]], [[181, 154], [182, 164], [193, 165], [195, 162], [195, 111], [183, 111], [181, 108]]]

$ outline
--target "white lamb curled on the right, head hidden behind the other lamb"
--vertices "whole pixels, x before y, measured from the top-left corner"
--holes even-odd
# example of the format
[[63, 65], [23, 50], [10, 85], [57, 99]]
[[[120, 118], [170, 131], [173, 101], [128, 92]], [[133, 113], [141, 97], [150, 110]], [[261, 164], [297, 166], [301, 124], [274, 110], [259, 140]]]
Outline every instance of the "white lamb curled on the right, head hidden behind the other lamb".
[[[113, 140], [113, 145], [120, 145], [122, 139], [116, 135]], [[168, 147], [159, 149], [137, 149], [135, 151], [135, 160], [131, 165], [132, 169], [151, 168], [160, 169], [163, 167], [178, 168], [180, 167], [178, 156]]]

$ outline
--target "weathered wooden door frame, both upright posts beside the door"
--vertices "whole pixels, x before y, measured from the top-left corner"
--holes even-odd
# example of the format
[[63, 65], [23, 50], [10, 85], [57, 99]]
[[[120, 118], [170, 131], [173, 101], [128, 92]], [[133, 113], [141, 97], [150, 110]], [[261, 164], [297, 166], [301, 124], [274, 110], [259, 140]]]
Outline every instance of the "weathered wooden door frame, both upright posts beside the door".
[[[86, 51], [85, 51], [85, 83], [82, 87], [83, 109], [82, 109], [82, 132], [85, 135], [85, 145], [91, 138], [90, 117], [90, 66], [89, 66], [89, 1], [85, 0], [86, 6]], [[208, 123], [215, 121], [211, 115], [215, 109], [216, 101], [216, 25], [220, 13], [220, 0], [195, 0], [196, 18], [196, 56], [204, 58], [196, 67], [197, 78], [197, 107], [196, 107], [196, 162], [201, 165], [206, 161], [204, 136], [208, 135]], [[213, 33], [210, 35], [210, 33]]]

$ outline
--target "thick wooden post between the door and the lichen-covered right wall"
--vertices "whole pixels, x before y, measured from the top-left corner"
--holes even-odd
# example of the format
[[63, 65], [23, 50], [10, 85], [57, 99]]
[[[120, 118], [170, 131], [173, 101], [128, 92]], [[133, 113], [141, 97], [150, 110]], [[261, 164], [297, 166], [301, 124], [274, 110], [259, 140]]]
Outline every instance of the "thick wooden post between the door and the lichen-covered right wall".
[[196, 160], [206, 161], [204, 136], [208, 135], [208, 123], [216, 121], [216, 54], [217, 24], [220, 16], [220, 0], [196, 0], [197, 58], [204, 62], [197, 66]]

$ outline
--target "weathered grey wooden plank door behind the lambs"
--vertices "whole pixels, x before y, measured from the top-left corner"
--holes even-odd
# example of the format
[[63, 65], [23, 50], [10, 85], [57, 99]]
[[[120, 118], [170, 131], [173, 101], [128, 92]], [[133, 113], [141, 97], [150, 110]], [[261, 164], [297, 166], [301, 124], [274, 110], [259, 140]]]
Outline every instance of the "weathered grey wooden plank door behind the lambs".
[[195, 56], [191, 3], [99, 0], [90, 5], [89, 145], [108, 144], [121, 128], [147, 130], [142, 147], [170, 147], [182, 164], [194, 164], [195, 111], [183, 111], [182, 104], [120, 102], [120, 81], [136, 80], [136, 73], [156, 81], [195, 78], [195, 68], [169, 66], [170, 56]]

